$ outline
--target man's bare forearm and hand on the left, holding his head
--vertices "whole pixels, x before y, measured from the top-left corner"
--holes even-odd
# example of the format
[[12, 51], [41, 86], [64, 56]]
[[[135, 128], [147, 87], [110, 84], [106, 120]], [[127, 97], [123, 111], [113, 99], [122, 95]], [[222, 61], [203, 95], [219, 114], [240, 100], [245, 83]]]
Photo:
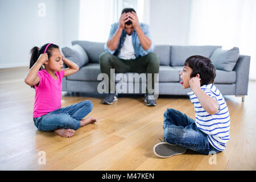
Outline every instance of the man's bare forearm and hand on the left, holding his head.
[[108, 40], [107, 46], [110, 51], [114, 51], [115, 49], [117, 49], [119, 39], [122, 35], [122, 30], [125, 27], [125, 23], [129, 21], [129, 19], [127, 19], [127, 17], [128, 17], [127, 13], [123, 13], [121, 15], [121, 17], [119, 19], [117, 31], [115, 31], [115, 34], [112, 36], [112, 38], [110, 38]]

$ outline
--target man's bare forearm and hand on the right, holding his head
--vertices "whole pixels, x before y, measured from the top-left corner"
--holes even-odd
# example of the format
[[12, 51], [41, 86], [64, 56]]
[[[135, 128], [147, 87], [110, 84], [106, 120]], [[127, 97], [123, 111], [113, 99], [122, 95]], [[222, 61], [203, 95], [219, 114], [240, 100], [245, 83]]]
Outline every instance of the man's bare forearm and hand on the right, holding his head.
[[141, 43], [141, 46], [144, 50], [148, 50], [151, 46], [151, 40], [144, 34], [144, 32], [141, 30], [141, 27], [139, 26], [139, 20], [136, 13], [128, 13], [129, 14], [129, 20], [133, 22], [133, 27], [137, 32], [139, 42]]

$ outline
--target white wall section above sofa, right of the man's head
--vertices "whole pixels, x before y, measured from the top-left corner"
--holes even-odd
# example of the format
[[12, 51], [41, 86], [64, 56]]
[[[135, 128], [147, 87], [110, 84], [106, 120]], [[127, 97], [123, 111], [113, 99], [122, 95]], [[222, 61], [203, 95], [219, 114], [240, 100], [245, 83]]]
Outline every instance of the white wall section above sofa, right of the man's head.
[[188, 45], [191, 0], [151, 0], [150, 31], [155, 44]]

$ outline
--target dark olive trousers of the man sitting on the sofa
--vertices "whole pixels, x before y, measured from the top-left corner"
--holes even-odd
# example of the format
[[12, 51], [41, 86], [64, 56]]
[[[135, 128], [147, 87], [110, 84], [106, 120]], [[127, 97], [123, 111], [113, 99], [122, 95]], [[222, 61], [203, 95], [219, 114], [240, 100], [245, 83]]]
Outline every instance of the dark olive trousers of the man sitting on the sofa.
[[119, 59], [117, 56], [111, 55], [108, 52], [104, 52], [101, 53], [99, 61], [101, 73], [106, 73], [106, 75], [108, 75], [109, 77], [109, 93], [111, 84], [110, 80], [113, 80], [110, 75], [110, 69], [115, 69], [115, 73], [152, 73], [151, 84], [152, 90], [154, 92], [154, 73], [159, 73], [159, 56], [155, 52], [151, 52], [148, 53], [146, 56], [138, 57], [137, 59], [131, 60]]

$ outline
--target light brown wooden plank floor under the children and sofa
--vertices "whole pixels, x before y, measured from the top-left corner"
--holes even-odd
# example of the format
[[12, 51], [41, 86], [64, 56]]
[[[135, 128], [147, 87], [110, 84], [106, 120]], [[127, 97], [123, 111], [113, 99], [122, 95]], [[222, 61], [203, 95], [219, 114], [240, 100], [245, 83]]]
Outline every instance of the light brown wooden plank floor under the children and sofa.
[[[152, 147], [163, 139], [163, 113], [174, 108], [195, 118], [188, 97], [160, 96], [156, 107], [141, 96], [122, 96], [102, 105], [103, 96], [64, 94], [62, 106], [90, 100], [97, 123], [71, 138], [39, 131], [32, 120], [34, 89], [24, 84], [27, 68], [0, 69], [0, 170], [255, 170], [256, 82], [249, 96], [226, 96], [231, 117], [230, 141], [215, 156], [188, 150], [159, 159]], [[46, 164], [39, 164], [40, 151]], [[213, 162], [216, 162], [214, 164]]]

